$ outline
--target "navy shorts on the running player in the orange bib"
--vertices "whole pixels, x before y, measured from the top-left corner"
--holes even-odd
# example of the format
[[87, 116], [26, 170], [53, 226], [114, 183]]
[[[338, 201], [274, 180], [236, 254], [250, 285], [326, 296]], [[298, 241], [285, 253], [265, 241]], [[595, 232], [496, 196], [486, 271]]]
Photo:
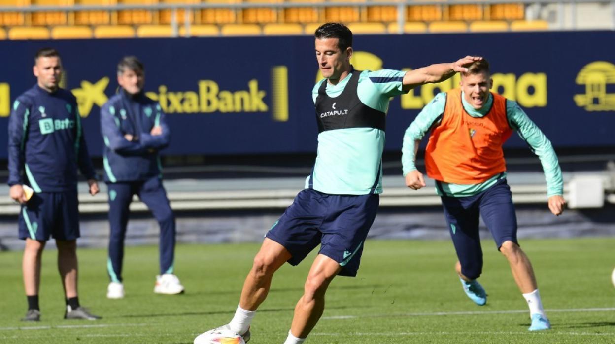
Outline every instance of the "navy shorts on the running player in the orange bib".
[[498, 250], [504, 241], [517, 242], [517, 215], [506, 179], [482, 193], [467, 197], [442, 196], [446, 224], [450, 231], [461, 273], [476, 279], [482, 273], [483, 251], [478, 235], [478, 217], [491, 232]]

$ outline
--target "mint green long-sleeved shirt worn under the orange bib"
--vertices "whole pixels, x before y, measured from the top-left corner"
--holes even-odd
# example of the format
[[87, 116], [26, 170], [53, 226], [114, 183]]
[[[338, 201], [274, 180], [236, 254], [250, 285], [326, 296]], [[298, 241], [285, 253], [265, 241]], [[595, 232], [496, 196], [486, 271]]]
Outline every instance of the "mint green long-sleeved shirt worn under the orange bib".
[[[486, 112], [491, 108], [493, 103], [493, 96], [490, 94], [485, 106], [475, 110], [472, 105], [466, 102], [466, 99], [461, 95], [461, 100], [464, 109], [470, 116], [479, 118], [485, 116]], [[406, 130], [403, 136], [402, 146], [402, 166], [403, 175], [407, 175], [408, 172], [416, 170], [416, 141], [423, 139], [427, 131], [432, 126], [440, 124], [442, 118], [440, 115], [444, 113], [446, 105], [446, 92], [437, 94], [434, 99], [427, 104], [421, 113], [416, 116], [416, 119], [410, 124], [410, 127]], [[547, 180], [547, 196], [562, 195], [564, 183], [561, 178], [560, 164], [557, 160], [555, 150], [551, 145], [551, 142], [547, 137], [542, 134], [542, 131], [531, 121], [528, 115], [519, 107], [517, 102], [512, 100], [506, 100], [506, 115], [508, 122], [512, 129], [517, 131], [517, 134], [525, 141], [531, 148], [531, 150], [538, 155], [541, 161], [542, 169]], [[490, 188], [498, 182], [502, 176], [497, 174], [491, 177], [486, 182], [464, 185], [454, 183], [442, 182], [442, 188], [447, 196], [464, 197], [478, 194], [487, 188]], [[506, 177], [506, 172], [504, 173]], [[442, 196], [442, 193], [438, 188], [436, 192]]]

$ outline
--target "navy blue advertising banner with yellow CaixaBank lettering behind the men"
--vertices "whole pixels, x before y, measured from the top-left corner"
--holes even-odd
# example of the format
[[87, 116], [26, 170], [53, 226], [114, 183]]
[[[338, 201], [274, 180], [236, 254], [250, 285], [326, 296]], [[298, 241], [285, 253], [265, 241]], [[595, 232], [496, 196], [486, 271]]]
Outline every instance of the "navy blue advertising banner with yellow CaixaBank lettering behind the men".
[[[102, 153], [99, 110], [117, 90], [116, 65], [125, 55], [145, 63], [146, 93], [169, 115], [172, 143], [165, 154], [315, 151], [314, 38], [2, 41], [2, 142], [12, 102], [36, 82], [33, 55], [44, 46], [62, 54], [63, 87], [77, 97], [92, 156]], [[494, 90], [516, 100], [556, 147], [612, 146], [614, 46], [612, 31], [355, 36], [352, 63], [358, 70], [410, 70], [482, 55], [491, 63]], [[458, 81], [394, 98], [386, 150], [399, 150], [421, 108]], [[525, 143], [514, 135], [507, 146]]]

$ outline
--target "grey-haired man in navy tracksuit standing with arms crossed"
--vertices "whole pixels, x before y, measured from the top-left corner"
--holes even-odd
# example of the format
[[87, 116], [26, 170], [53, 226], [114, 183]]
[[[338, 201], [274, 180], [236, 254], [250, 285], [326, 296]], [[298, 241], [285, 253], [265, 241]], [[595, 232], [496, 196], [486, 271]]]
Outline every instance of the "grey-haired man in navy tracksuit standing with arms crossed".
[[124, 238], [134, 194], [148, 206], [160, 225], [160, 274], [156, 276], [154, 292], [180, 294], [184, 287], [173, 274], [175, 215], [162, 186], [159, 155], [159, 151], [169, 145], [169, 126], [160, 105], [143, 94], [145, 67], [138, 58], [122, 58], [117, 65], [117, 82], [119, 92], [100, 110], [111, 227], [107, 260], [111, 282], [107, 287], [107, 297], [124, 297]]

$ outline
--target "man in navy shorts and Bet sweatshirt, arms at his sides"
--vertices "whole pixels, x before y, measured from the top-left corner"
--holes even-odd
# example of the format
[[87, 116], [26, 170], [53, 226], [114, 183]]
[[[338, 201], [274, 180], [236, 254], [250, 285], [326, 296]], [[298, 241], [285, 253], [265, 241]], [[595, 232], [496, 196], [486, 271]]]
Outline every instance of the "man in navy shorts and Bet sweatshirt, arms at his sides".
[[[59, 86], [62, 63], [57, 50], [39, 50], [33, 72], [36, 85], [17, 97], [9, 118], [9, 192], [22, 204], [19, 238], [26, 241], [23, 284], [28, 313], [22, 320], [41, 319], [41, 257], [50, 236], [58, 247], [58, 270], [66, 295], [64, 318], [100, 319], [81, 307], [77, 297], [77, 168], [87, 178], [92, 196], [98, 193], [98, 183], [76, 98]], [[30, 198], [24, 185], [34, 190]]]

